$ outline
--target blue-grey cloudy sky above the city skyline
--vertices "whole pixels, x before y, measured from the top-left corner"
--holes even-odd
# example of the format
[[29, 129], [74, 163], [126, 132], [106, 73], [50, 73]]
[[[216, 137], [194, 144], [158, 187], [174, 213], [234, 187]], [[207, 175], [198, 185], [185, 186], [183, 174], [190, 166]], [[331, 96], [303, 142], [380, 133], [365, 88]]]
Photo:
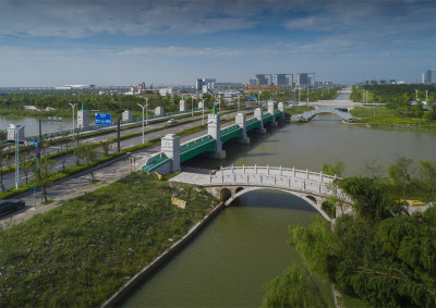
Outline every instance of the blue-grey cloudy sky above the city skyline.
[[421, 81], [435, 0], [0, 0], [0, 87]]

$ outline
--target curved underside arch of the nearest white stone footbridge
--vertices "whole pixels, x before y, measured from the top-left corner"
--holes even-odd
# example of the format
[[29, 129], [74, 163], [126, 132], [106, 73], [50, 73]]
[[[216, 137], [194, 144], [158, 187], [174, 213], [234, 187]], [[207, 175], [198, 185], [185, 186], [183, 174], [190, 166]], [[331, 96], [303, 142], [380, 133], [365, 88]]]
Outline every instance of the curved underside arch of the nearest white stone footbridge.
[[[231, 192], [231, 189], [223, 187], [220, 189], [220, 195], [221, 195], [221, 192], [225, 189]], [[322, 209], [322, 204], [324, 201], [323, 198], [318, 197], [318, 199], [319, 199], [318, 200], [315, 196], [312, 196], [312, 195], [302, 194], [302, 193], [294, 192], [294, 190], [281, 189], [281, 188], [274, 188], [274, 187], [266, 188], [266, 187], [259, 187], [259, 186], [250, 186], [250, 187], [238, 186], [233, 189], [233, 194], [231, 194], [231, 196], [225, 201], [225, 205], [226, 205], [226, 207], [229, 207], [231, 205], [231, 202], [233, 202], [238, 197], [240, 197], [246, 193], [259, 190], [259, 189], [284, 192], [287, 194], [296, 196], [296, 197], [303, 199], [304, 201], [306, 201], [308, 205], [311, 205], [315, 210], [317, 210], [324, 217], [324, 219], [326, 219], [327, 221], [331, 221], [330, 217]]]

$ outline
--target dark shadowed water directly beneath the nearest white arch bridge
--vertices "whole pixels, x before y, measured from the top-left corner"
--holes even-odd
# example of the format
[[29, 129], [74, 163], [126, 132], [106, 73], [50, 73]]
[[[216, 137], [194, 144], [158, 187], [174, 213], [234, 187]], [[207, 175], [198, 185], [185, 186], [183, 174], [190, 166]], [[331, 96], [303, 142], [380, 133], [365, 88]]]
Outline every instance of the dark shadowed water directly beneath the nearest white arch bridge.
[[284, 192], [258, 189], [234, 199], [230, 207], [270, 208], [317, 213], [305, 200]]

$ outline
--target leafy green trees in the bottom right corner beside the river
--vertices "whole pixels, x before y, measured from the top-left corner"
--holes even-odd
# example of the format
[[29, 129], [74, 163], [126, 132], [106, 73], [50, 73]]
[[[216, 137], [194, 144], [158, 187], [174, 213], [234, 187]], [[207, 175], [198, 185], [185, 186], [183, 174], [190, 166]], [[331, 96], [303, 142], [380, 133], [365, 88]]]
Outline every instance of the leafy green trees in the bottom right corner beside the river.
[[[395, 185], [409, 181], [409, 162], [401, 158], [388, 169]], [[434, 194], [436, 161], [420, 165]], [[303, 261], [265, 285], [264, 306], [326, 307], [331, 294], [322, 285], [334, 283], [368, 306], [435, 307], [436, 207], [409, 214], [377, 176], [348, 177], [337, 185], [352, 198], [355, 215], [337, 218], [334, 227], [320, 215], [310, 226], [291, 226], [289, 245]]]

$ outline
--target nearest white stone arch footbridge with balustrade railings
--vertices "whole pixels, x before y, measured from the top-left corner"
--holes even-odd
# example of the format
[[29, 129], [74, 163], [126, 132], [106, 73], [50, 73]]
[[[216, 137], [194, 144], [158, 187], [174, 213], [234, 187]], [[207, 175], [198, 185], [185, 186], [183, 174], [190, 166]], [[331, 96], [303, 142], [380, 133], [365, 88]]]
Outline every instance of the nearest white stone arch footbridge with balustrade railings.
[[[226, 206], [238, 197], [257, 189], [275, 189], [298, 196], [314, 207], [326, 220], [331, 218], [323, 209], [328, 197], [344, 196], [332, 185], [336, 176], [322, 172], [298, 170], [282, 167], [227, 167], [209, 173], [182, 172], [171, 178], [173, 182], [194, 184], [205, 187], [210, 194], [225, 201]], [[344, 198], [343, 211], [336, 210], [336, 215], [351, 212], [351, 200]]]

